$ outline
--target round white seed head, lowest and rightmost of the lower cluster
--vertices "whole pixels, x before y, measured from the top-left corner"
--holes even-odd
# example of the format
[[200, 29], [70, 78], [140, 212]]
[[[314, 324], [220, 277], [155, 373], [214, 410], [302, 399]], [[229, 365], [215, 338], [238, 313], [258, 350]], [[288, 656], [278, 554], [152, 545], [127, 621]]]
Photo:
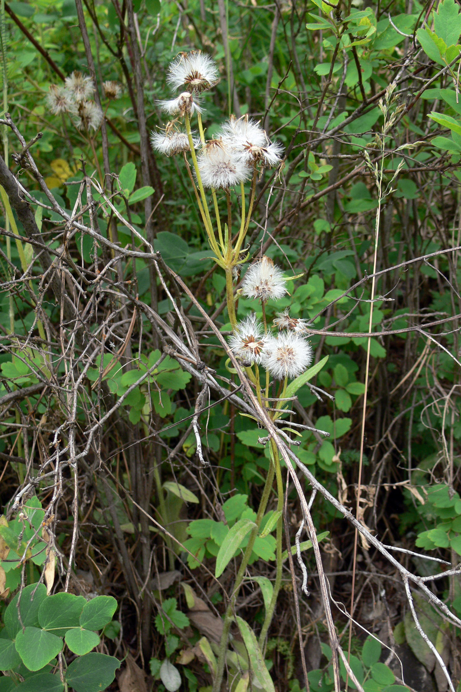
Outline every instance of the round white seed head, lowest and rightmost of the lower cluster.
[[282, 380], [293, 379], [305, 372], [312, 362], [313, 352], [308, 341], [292, 331], [282, 331], [277, 338], [271, 336], [262, 352], [262, 365], [271, 376]]

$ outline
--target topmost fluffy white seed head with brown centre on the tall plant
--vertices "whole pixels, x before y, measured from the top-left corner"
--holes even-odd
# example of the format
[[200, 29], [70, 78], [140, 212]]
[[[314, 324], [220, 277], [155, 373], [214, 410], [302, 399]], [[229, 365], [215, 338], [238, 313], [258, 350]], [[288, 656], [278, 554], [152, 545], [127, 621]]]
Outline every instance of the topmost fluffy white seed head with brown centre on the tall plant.
[[201, 93], [210, 89], [217, 82], [219, 72], [215, 61], [206, 53], [192, 51], [180, 53], [168, 67], [167, 82], [174, 89], [183, 89]]

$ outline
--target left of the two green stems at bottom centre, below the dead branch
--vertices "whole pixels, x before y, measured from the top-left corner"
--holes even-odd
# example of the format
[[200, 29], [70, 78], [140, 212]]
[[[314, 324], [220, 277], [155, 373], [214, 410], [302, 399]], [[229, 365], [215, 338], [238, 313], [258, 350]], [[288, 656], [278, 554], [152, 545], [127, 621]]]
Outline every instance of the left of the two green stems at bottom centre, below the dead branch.
[[245, 570], [248, 565], [248, 560], [253, 552], [253, 545], [255, 544], [255, 538], [260, 530], [260, 525], [264, 512], [266, 511], [267, 502], [269, 502], [269, 495], [271, 494], [272, 482], [275, 473], [275, 468], [273, 464], [269, 467], [269, 473], [266, 477], [266, 483], [264, 484], [264, 490], [262, 491], [260, 507], [257, 510], [257, 516], [255, 524], [256, 526], [251, 531], [250, 538], [248, 539], [248, 544], [246, 545], [244, 556], [242, 562], [240, 563], [239, 571], [235, 577], [234, 589], [232, 595], [230, 596], [229, 604], [224, 616], [224, 627], [222, 630], [221, 641], [219, 641], [219, 655], [216, 666], [216, 677], [213, 682], [213, 692], [221, 691], [222, 677], [224, 675], [224, 664], [226, 662], [226, 652], [227, 652], [227, 641], [230, 630], [230, 625], [233, 621], [233, 612], [235, 609], [235, 601], [237, 601], [237, 596], [239, 592], [240, 585], [244, 578]]

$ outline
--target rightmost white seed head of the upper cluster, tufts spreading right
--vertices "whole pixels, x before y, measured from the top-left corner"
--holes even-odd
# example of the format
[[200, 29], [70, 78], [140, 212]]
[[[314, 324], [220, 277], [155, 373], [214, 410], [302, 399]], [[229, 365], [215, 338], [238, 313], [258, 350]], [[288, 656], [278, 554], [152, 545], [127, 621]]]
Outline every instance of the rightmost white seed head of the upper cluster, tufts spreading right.
[[248, 116], [238, 120], [231, 117], [222, 126], [220, 134], [246, 165], [260, 163], [266, 167], [274, 167], [282, 161], [282, 145], [272, 143], [262, 127], [255, 120], [248, 119]]

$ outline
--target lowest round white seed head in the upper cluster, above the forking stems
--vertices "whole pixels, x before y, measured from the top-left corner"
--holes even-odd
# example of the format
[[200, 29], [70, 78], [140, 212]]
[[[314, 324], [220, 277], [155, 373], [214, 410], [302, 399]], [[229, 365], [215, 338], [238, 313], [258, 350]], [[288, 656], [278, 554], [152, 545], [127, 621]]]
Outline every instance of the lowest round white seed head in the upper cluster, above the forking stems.
[[[215, 143], [217, 140], [213, 140]], [[209, 145], [199, 158], [201, 181], [205, 188], [233, 188], [246, 181], [251, 170], [224, 145]]]

